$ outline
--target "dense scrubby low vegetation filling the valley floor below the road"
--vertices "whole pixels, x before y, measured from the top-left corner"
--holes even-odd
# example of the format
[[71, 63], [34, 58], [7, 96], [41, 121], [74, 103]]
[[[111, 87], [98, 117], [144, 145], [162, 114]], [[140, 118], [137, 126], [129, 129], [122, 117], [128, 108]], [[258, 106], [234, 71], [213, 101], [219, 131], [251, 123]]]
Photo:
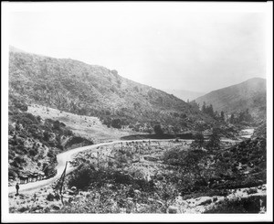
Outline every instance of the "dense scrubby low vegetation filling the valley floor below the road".
[[[82, 165], [68, 177], [67, 187], [77, 187], [89, 197], [73, 200], [59, 212], [72, 209], [76, 213], [165, 213], [178, 196], [184, 200], [227, 197], [231, 189], [266, 183], [265, 139], [230, 147], [221, 144], [220, 148], [207, 151], [180, 141], [171, 143], [101, 148], [100, 162], [96, 153], [78, 155], [76, 161]], [[249, 191], [248, 194], [256, 193]], [[248, 203], [252, 205], [248, 207]], [[256, 197], [225, 200], [206, 212], [227, 209], [227, 213], [233, 213], [234, 205], [248, 213], [258, 212], [255, 206], [260, 208]]]

